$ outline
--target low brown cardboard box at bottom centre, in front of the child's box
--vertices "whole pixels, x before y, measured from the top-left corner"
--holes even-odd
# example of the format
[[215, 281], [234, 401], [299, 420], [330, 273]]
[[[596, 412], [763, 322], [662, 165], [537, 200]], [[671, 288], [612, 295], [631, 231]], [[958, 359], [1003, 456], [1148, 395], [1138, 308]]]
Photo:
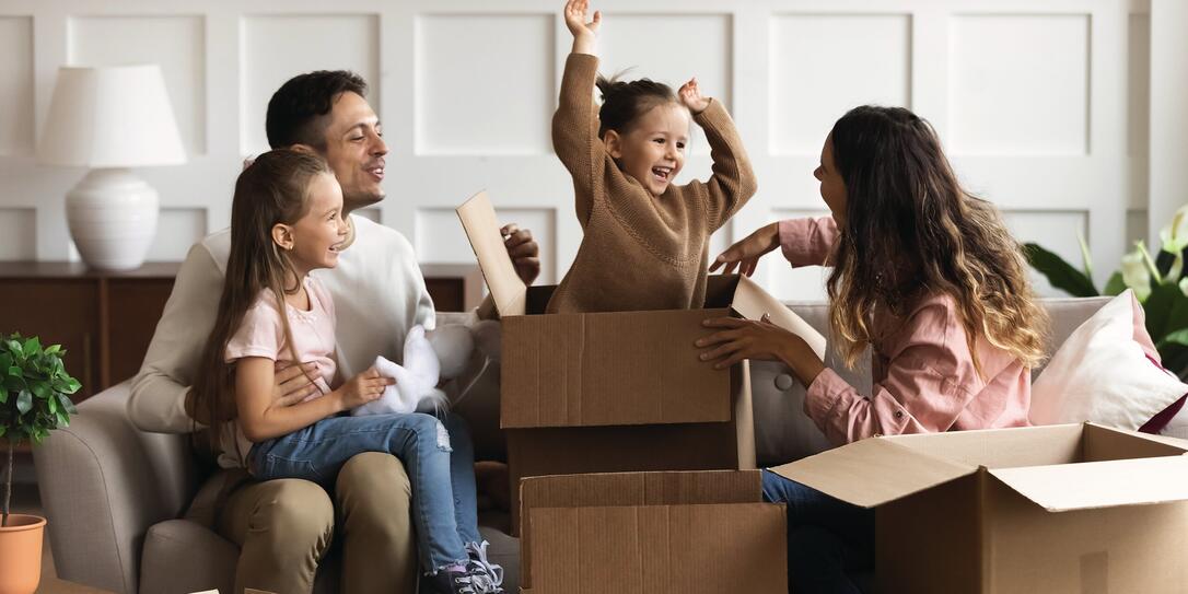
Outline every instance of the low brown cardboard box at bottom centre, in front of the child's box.
[[786, 514], [759, 470], [522, 482], [520, 592], [786, 594]]

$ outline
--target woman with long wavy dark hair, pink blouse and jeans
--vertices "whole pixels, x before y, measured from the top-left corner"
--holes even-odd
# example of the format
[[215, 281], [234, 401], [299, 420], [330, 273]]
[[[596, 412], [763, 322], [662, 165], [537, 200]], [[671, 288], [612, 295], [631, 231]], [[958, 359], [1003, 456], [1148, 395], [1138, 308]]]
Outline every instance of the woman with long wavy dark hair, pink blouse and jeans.
[[[1048, 320], [1019, 245], [993, 206], [966, 192], [935, 131], [903, 108], [858, 107], [838, 120], [814, 172], [832, 217], [781, 221], [735, 244], [714, 268], [746, 274], [783, 249], [794, 266], [832, 265], [833, 342], [853, 366], [872, 349], [871, 394], [766, 321], [713, 320], [701, 358], [726, 367], [779, 360], [808, 386], [805, 412], [835, 443], [874, 435], [1028, 424], [1031, 367]], [[859, 592], [873, 567], [873, 516], [764, 472], [788, 504], [795, 592]]]

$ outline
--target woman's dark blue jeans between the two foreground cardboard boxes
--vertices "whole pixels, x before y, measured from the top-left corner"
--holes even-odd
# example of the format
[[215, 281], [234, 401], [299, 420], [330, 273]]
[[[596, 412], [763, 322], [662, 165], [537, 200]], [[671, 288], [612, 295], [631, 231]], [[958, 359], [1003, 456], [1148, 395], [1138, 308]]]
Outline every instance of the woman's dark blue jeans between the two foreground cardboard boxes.
[[874, 511], [849, 505], [771, 470], [763, 498], [788, 505], [788, 587], [796, 593], [862, 590], [854, 574], [874, 569]]

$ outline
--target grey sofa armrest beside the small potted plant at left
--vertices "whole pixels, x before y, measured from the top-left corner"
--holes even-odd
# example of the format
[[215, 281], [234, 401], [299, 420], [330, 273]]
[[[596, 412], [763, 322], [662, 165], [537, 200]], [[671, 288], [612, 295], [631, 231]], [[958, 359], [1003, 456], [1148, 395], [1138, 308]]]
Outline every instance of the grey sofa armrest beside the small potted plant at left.
[[182, 513], [197, 469], [187, 437], [138, 430], [127, 399], [124, 383], [81, 403], [33, 463], [58, 576], [133, 594], [145, 533]]

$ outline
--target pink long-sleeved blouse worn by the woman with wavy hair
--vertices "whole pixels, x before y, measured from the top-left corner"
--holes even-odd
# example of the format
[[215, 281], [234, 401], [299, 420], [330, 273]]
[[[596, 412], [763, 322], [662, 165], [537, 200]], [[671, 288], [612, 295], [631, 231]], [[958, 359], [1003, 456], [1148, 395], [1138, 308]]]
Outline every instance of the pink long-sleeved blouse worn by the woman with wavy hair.
[[[779, 222], [779, 244], [792, 266], [826, 264], [838, 235], [828, 216]], [[925, 296], [902, 317], [877, 314], [871, 331], [871, 396], [829, 368], [808, 387], [804, 412], [829, 441], [1029, 424], [1031, 369], [979, 336], [979, 375], [948, 295]]]

